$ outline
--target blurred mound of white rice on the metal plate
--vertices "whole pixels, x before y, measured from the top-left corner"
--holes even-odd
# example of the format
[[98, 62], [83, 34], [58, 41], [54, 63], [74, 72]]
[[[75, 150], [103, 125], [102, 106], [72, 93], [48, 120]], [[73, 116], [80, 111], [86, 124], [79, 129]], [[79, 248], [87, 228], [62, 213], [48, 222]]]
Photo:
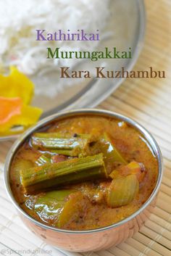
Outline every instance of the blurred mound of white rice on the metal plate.
[[[99, 0], [5, 0], [0, 1], [0, 66], [16, 65], [23, 73], [66, 65], [66, 59], [46, 59], [46, 47], [69, 51], [96, 49], [98, 41], [36, 41], [36, 29], [75, 33], [102, 33], [109, 17], [109, 1]], [[78, 60], [70, 60], [70, 66]]]

